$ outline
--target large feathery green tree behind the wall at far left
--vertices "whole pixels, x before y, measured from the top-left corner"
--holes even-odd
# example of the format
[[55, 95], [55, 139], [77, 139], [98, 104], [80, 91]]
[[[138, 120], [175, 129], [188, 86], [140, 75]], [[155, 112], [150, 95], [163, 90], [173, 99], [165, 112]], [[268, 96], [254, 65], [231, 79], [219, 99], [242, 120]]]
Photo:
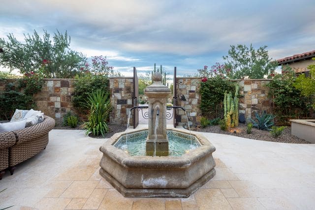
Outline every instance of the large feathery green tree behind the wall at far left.
[[80, 67], [86, 63], [86, 57], [69, 48], [70, 36], [57, 30], [52, 40], [44, 30], [41, 38], [34, 30], [32, 35], [25, 35], [25, 43], [18, 41], [12, 33], [8, 41], [0, 38], [0, 64], [4, 67], [19, 69], [22, 74], [42, 69], [44, 77], [73, 78]]

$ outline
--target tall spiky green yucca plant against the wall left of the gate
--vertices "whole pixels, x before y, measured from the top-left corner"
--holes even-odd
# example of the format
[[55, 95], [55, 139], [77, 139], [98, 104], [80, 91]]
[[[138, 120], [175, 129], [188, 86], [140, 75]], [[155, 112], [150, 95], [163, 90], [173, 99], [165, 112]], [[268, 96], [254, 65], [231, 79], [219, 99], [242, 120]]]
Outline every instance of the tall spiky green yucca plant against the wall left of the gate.
[[86, 134], [93, 136], [104, 136], [109, 131], [107, 120], [112, 110], [109, 93], [103, 90], [96, 90], [88, 96], [87, 105], [90, 107], [88, 121], [84, 123]]

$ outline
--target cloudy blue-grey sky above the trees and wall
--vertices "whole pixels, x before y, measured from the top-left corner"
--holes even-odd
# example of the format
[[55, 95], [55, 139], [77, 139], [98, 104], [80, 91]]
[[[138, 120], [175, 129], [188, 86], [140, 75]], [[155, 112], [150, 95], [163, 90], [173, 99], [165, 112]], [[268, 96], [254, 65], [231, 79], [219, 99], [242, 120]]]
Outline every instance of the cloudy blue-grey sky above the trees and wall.
[[273, 59], [315, 50], [315, 0], [0, 0], [0, 37], [33, 30], [67, 30], [71, 49], [125, 76], [154, 63], [192, 75], [230, 45], [267, 45]]

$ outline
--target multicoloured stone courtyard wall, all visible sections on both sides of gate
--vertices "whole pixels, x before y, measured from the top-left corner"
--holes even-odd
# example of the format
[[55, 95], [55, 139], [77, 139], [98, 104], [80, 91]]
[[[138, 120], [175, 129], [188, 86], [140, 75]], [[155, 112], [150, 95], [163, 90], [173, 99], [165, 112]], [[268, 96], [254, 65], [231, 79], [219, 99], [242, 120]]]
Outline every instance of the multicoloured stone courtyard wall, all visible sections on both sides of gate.
[[[202, 116], [199, 104], [201, 78], [178, 77], [176, 78], [177, 105], [187, 110], [189, 121], [199, 124]], [[266, 110], [272, 112], [273, 103], [268, 98], [269, 88], [265, 85], [269, 79], [233, 80], [240, 84], [240, 94], [244, 97], [239, 101], [239, 113], [245, 114], [246, 119], [254, 118], [255, 111]], [[16, 82], [15, 79], [8, 79], [7, 82]], [[66, 112], [77, 114], [72, 105], [73, 79], [44, 79], [42, 90], [37, 93], [35, 103], [37, 109], [41, 110], [57, 122], [63, 120]], [[110, 115], [110, 123], [118, 125], [127, 124], [127, 115], [132, 107], [133, 82], [132, 77], [109, 78], [110, 97], [113, 111]], [[0, 92], [4, 91], [4, 83], [0, 81]], [[171, 95], [169, 100], [171, 101]], [[82, 118], [82, 116], [80, 116]], [[179, 125], [187, 124], [184, 111], [179, 110], [177, 116]], [[132, 125], [132, 113], [130, 116]]]

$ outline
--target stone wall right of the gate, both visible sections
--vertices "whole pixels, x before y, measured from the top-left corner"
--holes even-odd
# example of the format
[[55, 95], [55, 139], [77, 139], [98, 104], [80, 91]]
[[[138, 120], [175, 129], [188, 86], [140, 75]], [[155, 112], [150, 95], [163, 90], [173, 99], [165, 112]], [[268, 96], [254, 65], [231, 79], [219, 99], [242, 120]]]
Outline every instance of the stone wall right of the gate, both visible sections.
[[[239, 113], [244, 114], [246, 119], [254, 118], [254, 112], [266, 110], [272, 112], [273, 103], [268, 98], [270, 79], [251, 79], [251, 80], [232, 80], [240, 84]], [[184, 107], [187, 112], [189, 121], [193, 124], [200, 124], [202, 117], [199, 108], [201, 95], [199, 94], [201, 78], [199, 77], [177, 77], [177, 105]], [[210, 93], [211, 94], [211, 93]], [[177, 120], [178, 125], [186, 125], [187, 118], [184, 111], [179, 110]]]

